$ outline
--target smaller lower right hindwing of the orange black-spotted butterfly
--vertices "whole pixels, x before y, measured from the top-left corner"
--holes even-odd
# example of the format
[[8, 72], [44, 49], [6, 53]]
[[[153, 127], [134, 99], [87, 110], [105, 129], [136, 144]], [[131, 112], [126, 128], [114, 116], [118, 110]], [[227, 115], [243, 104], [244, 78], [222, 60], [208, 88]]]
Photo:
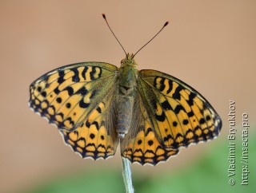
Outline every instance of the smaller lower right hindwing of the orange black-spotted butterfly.
[[166, 150], [162, 148], [155, 135], [153, 125], [150, 124], [150, 118], [142, 104], [142, 100], [140, 97], [137, 99], [138, 103], [135, 104], [133, 117], [134, 119], [135, 117], [141, 118], [136, 124], [131, 125], [130, 132], [121, 141], [122, 156], [132, 163], [156, 165], [161, 161], [168, 160], [170, 156], [178, 154], [178, 150]]

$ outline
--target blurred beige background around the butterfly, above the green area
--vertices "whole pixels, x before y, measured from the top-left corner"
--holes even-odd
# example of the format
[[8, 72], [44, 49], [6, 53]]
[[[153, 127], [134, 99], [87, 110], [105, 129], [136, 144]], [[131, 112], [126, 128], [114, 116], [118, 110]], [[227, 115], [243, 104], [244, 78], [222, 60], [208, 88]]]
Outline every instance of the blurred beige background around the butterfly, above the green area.
[[51, 69], [80, 61], [119, 65], [125, 55], [102, 13], [129, 53], [170, 21], [137, 55], [139, 69], [157, 69], [185, 81], [223, 120], [217, 140], [184, 149], [157, 167], [135, 165], [134, 172], [170, 170], [171, 175], [189, 164], [188, 158], [196, 162], [227, 140], [229, 100], [236, 102], [238, 126], [242, 112], [255, 124], [255, 10], [253, 0], [0, 1], [0, 192], [81, 168], [121, 171], [119, 153], [109, 160], [82, 160], [27, 105], [30, 83]]

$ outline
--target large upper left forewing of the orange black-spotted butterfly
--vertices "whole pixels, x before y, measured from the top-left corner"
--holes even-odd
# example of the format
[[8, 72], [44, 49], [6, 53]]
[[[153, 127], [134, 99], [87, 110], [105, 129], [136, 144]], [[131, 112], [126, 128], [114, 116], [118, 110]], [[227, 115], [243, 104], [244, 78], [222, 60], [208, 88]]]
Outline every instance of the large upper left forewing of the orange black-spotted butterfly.
[[78, 128], [115, 85], [117, 67], [86, 62], [55, 69], [30, 85], [30, 107], [58, 128]]

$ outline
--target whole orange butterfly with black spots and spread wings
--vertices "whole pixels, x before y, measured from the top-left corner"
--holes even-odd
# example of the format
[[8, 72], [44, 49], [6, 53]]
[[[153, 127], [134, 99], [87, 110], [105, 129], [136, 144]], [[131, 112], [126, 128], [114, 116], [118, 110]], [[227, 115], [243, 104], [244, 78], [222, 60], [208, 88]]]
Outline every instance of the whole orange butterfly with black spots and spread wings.
[[138, 70], [134, 54], [66, 65], [30, 85], [30, 108], [46, 117], [82, 158], [114, 156], [156, 165], [212, 140], [222, 120], [195, 89], [166, 73]]

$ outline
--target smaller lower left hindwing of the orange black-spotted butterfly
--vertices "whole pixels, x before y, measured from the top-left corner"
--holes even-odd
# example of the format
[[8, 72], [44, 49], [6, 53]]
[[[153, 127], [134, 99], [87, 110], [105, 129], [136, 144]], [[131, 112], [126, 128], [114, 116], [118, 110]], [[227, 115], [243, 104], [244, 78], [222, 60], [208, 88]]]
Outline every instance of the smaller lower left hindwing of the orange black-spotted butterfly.
[[[113, 91], [115, 91], [113, 89]], [[118, 135], [115, 128], [113, 100], [114, 92], [98, 104], [88, 118], [73, 132], [60, 130], [66, 144], [83, 158], [106, 159], [114, 156], [118, 147]]]

